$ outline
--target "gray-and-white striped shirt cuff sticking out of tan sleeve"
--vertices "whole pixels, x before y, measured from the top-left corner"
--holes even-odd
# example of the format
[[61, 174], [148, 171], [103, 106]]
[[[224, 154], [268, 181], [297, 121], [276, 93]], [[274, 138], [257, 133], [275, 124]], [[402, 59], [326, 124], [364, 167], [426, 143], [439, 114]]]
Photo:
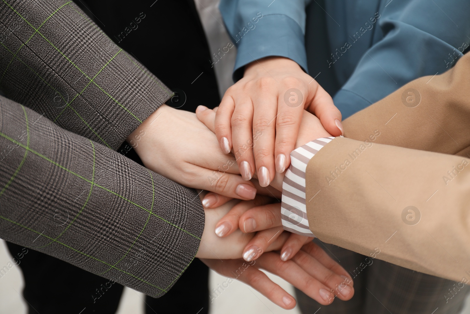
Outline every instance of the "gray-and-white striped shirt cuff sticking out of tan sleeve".
[[292, 233], [314, 237], [310, 231], [305, 202], [307, 163], [335, 137], [322, 137], [298, 147], [290, 153], [290, 166], [282, 182], [282, 226]]

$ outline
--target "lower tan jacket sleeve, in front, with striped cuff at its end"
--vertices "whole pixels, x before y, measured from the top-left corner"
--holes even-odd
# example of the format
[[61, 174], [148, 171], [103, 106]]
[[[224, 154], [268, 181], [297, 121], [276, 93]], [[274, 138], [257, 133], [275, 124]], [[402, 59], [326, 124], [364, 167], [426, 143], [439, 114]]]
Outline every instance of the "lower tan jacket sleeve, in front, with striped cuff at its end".
[[336, 138], [308, 163], [306, 186], [308, 221], [321, 241], [468, 278], [468, 158]]

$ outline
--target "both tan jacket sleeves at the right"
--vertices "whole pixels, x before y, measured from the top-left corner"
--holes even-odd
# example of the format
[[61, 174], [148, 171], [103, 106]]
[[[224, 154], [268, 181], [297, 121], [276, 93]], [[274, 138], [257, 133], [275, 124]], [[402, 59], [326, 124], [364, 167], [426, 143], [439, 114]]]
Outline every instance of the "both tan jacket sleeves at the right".
[[406, 84], [345, 120], [345, 138], [308, 162], [307, 216], [321, 241], [470, 277], [469, 70], [467, 54]]

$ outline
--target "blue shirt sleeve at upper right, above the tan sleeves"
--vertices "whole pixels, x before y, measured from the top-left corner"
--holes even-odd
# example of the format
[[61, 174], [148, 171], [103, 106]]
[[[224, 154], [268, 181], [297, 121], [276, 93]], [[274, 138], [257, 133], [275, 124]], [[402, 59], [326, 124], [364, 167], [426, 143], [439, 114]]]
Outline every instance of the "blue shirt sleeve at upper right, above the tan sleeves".
[[333, 98], [343, 118], [409, 81], [445, 72], [470, 44], [470, 1], [381, 2], [375, 35], [382, 38], [373, 40]]

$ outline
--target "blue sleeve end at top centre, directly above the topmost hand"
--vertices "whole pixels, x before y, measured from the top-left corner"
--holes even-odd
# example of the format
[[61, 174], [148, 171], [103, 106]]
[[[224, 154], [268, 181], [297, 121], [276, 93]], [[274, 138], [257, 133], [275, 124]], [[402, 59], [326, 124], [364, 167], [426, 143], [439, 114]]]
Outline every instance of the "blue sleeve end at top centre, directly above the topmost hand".
[[221, 0], [219, 9], [237, 46], [233, 78], [246, 64], [266, 56], [283, 56], [307, 71], [305, 6], [310, 0]]

